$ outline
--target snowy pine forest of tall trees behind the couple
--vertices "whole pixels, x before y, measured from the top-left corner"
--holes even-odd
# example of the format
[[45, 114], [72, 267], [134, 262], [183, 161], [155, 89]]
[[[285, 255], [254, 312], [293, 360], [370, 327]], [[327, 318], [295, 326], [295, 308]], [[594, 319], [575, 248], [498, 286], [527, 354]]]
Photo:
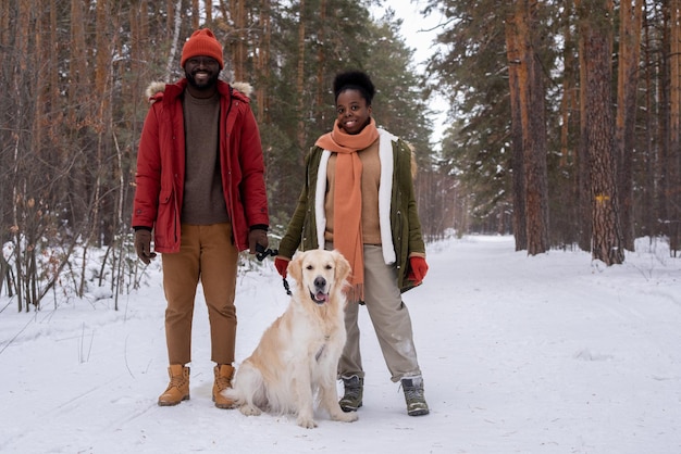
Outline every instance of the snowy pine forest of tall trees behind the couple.
[[[389, 3], [0, 0], [0, 293], [28, 311], [144, 279], [129, 220], [145, 89], [183, 76], [203, 26], [222, 77], [255, 87], [274, 247], [333, 124], [333, 76], [354, 67], [377, 124], [413, 146], [426, 240], [512, 234], [532, 255], [612, 265], [647, 236], [678, 254], [681, 0], [420, 1], [442, 17], [424, 72]], [[449, 109], [438, 143], [433, 93]]]

